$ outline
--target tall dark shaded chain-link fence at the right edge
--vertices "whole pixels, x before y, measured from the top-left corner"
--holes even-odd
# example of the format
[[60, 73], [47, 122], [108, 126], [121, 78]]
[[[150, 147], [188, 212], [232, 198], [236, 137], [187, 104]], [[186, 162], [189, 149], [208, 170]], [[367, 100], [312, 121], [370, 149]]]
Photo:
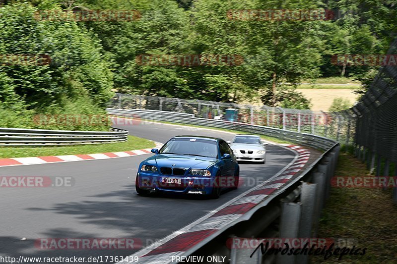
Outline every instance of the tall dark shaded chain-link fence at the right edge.
[[[397, 40], [386, 56], [396, 56]], [[384, 65], [360, 102], [352, 107], [357, 116], [356, 155], [377, 176], [397, 176], [397, 67]], [[397, 202], [397, 189], [394, 188]]]

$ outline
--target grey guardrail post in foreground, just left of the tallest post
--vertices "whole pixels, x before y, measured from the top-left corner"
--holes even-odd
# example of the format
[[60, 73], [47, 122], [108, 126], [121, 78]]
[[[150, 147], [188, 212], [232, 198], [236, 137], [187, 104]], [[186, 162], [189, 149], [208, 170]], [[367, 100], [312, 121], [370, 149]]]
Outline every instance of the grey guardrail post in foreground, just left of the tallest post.
[[[280, 238], [297, 238], [299, 234], [302, 205], [300, 203], [282, 202], [280, 216]], [[294, 255], [278, 255], [277, 264], [295, 263]]]

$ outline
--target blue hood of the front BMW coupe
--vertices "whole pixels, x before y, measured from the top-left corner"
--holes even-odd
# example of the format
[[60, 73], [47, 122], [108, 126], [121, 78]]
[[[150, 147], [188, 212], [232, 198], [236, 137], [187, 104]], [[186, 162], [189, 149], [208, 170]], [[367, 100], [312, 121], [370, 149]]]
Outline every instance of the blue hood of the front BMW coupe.
[[[147, 158], [145, 163], [157, 167], [201, 168], [206, 169], [217, 161], [216, 158], [205, 158], [188, 155], [158, 154]], [[175, 164], [172, 166], [172, 164]]]

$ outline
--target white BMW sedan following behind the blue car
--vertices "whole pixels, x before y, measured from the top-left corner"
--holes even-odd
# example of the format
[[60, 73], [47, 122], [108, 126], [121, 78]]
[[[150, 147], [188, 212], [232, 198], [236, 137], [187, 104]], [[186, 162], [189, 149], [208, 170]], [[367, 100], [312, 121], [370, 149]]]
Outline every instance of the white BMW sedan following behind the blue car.
[[228, 141], [237, 161], [254, 161], [265, 163], [266, 145], [259, 136], [236, 135], [232, 141]]

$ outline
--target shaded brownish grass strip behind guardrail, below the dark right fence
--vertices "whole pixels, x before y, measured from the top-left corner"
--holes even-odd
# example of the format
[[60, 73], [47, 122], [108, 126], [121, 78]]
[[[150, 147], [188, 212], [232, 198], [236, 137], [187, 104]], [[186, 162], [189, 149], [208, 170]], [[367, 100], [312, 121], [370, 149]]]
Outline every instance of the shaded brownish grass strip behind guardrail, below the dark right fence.
[[[364, 163], [341, 153], [335, 175], [370, 176]], [[396, 263], [397, 206], [391, 190], [367, 188], [331, 188], [331, 196], [320, 219], [318, 237], [355, 238], [356, 249], [367, 248], [364, 256], [344, 256], [310, 263]]]

